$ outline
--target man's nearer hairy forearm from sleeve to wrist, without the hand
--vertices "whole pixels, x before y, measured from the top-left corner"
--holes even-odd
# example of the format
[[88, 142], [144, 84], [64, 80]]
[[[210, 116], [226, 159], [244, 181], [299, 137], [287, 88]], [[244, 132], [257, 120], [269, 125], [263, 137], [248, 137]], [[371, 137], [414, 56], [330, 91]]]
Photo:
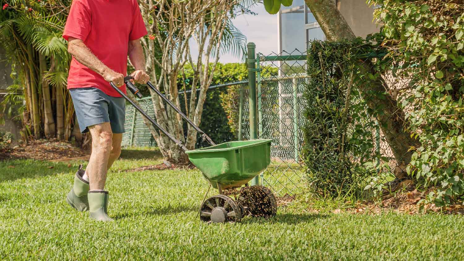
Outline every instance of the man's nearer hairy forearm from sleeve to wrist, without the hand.
[[68, 51], [79, 63], [87, 66], [101, 76], [108, 72], [108, 70], [111, 70], [90, 51], [82, 40], [71, 40], [69, 42]]

